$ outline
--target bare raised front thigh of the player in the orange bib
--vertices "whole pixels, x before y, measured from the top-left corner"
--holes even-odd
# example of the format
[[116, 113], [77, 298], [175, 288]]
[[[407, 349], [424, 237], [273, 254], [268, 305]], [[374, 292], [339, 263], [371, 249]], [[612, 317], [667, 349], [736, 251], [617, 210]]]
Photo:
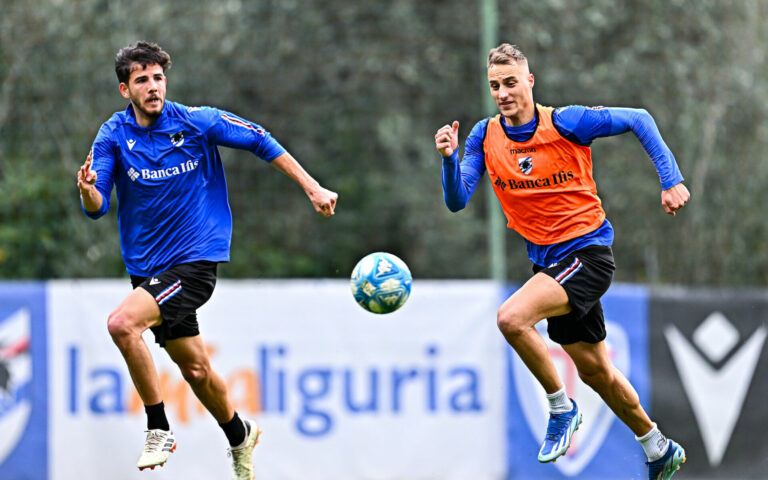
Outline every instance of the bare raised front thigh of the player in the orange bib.
[[537, 273], [502, 304], [499, 320], [534, 325], [544, 318], [570, 311], [568, 294], [563, 286], [554, 278]]

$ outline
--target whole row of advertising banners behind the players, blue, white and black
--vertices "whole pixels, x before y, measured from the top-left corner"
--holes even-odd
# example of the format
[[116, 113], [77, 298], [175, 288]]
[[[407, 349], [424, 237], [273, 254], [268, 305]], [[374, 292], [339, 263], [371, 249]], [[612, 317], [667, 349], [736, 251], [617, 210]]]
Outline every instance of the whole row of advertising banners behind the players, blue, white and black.
[[[146, 419], [106, 326], [129, 292], [127, 280], [0, 283], [0, 479], [229, 476], [224, 434], [149, 332], [179, 446], [165, 467], [136, 468]], [[578, 378], [545, 322], [539, 331], [584, 422], [565, 457], [536, 460], [547, 405], [496, 327], [509, 293], [417, 281], [401, 310], [375, 315], [341, 280], [221, 281], [199, 311], [201, 332], [236, 409], [264, 431], [257, 478], [645, 478], [632, 432]], [[765, 292], [651, 295], [629, 285], [603, 297], [613, 363], [697, 478], [764, 478], [768, 457], [740, 452], [766, 451], [754, 420], [768, 411], [766, 301]]]

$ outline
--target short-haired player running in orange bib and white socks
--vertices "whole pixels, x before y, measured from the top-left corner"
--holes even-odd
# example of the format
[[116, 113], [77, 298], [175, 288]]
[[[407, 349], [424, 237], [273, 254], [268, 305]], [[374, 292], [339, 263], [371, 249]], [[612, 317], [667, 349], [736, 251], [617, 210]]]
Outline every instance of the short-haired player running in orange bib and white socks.
[[640, 405], [637, 392], [617, 370], [605, 346], [600, 297], [615, 270], [613, 228], [597, 196], [591, 142], [632, 131], [654, 163], [661, 204], [675, 215], [690, 194], [675, 158], [653, 118], [642, 109], [552, 108], [533, 100], [528, 60], [504, 43], [488, 54], [488, 86], [500, 114], [478, 122], [458, 156], [459, 122], [435, 134], [443, 157], [443, 191], [451, 211], [463, 209], [485, 171], [509, 228], [525, 239], [534, 275], [498, 311], [507, 342], [544, 387], [549, 425], [540, 462], [565, 454], [581, 413], [568, 398], [546, 343], [535, 325], [547, 319], [549, 337], [573, 359], [580, 378], [635, 434], [648, 457], [648, 477], [667, 480], [685, 461]]

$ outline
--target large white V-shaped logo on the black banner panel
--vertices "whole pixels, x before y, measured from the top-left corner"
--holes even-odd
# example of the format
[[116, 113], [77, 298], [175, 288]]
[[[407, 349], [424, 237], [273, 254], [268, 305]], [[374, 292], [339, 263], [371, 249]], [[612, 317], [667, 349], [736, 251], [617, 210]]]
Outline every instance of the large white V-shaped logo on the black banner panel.
[[[719, 314], [719, 312], [715, 312]], [[714, 314], [713, 314], [714, 315]], [[725, 318], [710, 316], [698, 328], [708, 322], [721, 322]], [[727, 319], [726, 319], [727, 322]], [[721, 327], [727, 328], [724, 324]], [[732, 328], [730, 324], [728, 324]], [[724, 330], [726, 331], [726, 330]], [[761, 326], [728, 362], [715, 370], [702, 358], [682, 333], [673, 325], [664, 329], [664, 336], [672, 352], [683, 388], [693, 407], [701, 437], [711, 466], [720, 465], [731, 434], [741, 414], [741, 407], [752, 382], [752, 377], [763, 350], [768, 332]], [[694, 335], [700, 337], [700, 335]], [[712, 352], [717, 358], [719, 352]]]

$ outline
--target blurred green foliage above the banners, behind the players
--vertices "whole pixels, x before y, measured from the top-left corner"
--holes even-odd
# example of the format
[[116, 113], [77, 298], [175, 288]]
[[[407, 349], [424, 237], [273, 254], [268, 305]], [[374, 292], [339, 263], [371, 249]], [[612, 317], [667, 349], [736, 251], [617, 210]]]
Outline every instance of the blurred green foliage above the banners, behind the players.
[[[486, 188], [443, 205], [434, 132], [483, 116], [476, 2], [7, 0], [0, 17], [0, 277], [125, 275], [116, 213], [80, 211], [75, 172], [125, 107], [113, 58], [139, 39], [173, 58], [169, 99], [264, 125], [339, 193], [324, 219], [252, 155], [222, 149], [234, 215], [228, 277], [346, 277], [388, 250], [416, 278], [488, 275]], [[544, 104], [646, 108], [692, 202], [663, 213], [631, 134], [598, 140], [598, 187], [617, 232], [617, 280], [765, 285], [762, 161], [768, 4], [758, 0], [499, 3]], [[484, 187], [484, 185], [481, 185]], [[498, 212], [496, 212], [498, 213]], [[508, 276], [529, 264], [507, 239]]]

